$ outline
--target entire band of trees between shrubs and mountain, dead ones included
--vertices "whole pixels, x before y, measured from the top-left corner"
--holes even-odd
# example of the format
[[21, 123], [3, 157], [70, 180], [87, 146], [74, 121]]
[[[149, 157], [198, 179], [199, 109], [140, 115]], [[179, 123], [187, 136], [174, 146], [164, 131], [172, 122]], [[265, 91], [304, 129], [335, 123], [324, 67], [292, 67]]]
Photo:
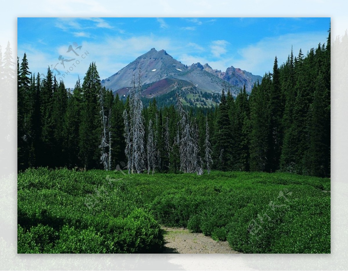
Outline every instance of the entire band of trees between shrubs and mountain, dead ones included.
[[[140, 78], [134, 89], [141, 89]], [[217, 107], [187, 109], [174, 98], [143, 107], [139, 93], [125, 103], [114, 97], [92, 63], [71, 94], [49, 69], [46, 78], [35, 78], [24, 55], [18, 61], [18, 169], [124, 169], [128, 163], [135, 172], [208, 167], [330, 176], [330, 33], [326, 46], [306, 56], [291, 51], [280, 66], [275, 58], [273, 72], [250, 95], [245, 87], [236, 98], [222, 91]]]

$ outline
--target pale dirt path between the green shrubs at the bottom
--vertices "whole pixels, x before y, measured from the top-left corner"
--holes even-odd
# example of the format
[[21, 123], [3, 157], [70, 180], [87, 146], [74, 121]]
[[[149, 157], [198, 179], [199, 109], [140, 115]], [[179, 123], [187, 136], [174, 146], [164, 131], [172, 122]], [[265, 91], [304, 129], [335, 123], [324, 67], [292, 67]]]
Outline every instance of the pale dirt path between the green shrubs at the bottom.
[[227, 241], [215, 241], [203, 233], [191, 233], [184, 228], [162, 227], [164, 253], [239, 253], [230, 248]]

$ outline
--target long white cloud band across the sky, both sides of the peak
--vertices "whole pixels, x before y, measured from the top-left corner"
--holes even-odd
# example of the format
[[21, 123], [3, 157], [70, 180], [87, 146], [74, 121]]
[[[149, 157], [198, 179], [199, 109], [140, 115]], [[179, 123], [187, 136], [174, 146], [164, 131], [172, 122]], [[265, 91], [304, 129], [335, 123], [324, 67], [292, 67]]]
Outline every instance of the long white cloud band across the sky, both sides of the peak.
[[[84, 33], [84, 31], [76, 31], [76, 33], [80, 32]], [[265, 72], [271, 71], [276, 55], [279, 65], [286, 61], [291, 51], [291, 45], [293, 45], [294, 55], [298, 54], [300, 48], [306, 55], [307, 50], [316, 47], [319, 41], [326, 42], [326, 35], [326, 31], [288, 34], [276, 38], [264, 38], [252, 45], [234, 50], [230, 48], [231, 45], [226, 40], [214, 40], [204, 45], [183, 42], [183, 40], [171, 37], [157, 37], [153, 34], [129, 38], [119, 36], [95, 41], [87, 40], [79, 44], [82, 45], [82, 48], [81, 51], [77, 50], [77, 53], [88, 51], [88, 57], [78, 65], [78, 68], [70, 72], [69, 76], [65, 77], [64, 82], [67, 87], [73, 87], [77, 75], [79, 74], [80, 78], [83, 78], [92, 61], [96, 62], [100, 78], [108, 78], [153, 47], [157, 50], [166, 50], [169, 55], [183, 64], [191, 65], [200, 62], [203, 65], [208, 63], [213, 69], [221, 71], [226, 71], [227, 67], [233, 65], [253, 74], [263, 75]], [[72, 52], [67, 53], [68, 46], [69, 44], [61, 44], [59, 47], [53, 48], [57, 53], [49, 55], [34, 50], [29, 45], [21, 45], [21, 48], [18, 48], [18, 55], [23, 56], [23, 48], [25, 48], [31, 71], [45, 73], [48, 65], [54, 66], [59, 62], [59, 55], [65, 59], [75, 58]], [[78, 57], [76, 56], [76, 58]], [[70, 62], [65, 64], [70, 65]], [[58, 66], [63, 69], [61, 64]], [[61, 69], [58, 70], [63, 72]]]

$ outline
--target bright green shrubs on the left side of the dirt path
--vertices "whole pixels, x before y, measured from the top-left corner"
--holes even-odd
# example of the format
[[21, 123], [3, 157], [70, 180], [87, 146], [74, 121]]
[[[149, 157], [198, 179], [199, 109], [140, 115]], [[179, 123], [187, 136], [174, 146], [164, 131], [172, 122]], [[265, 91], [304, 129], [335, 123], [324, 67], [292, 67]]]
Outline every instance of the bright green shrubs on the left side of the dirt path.
[[[18, 253], [160, 252], [158, 222], [120, 173], [27, 169], [18, 175]], [[137, 207], [139, 206], [139, 207]]]

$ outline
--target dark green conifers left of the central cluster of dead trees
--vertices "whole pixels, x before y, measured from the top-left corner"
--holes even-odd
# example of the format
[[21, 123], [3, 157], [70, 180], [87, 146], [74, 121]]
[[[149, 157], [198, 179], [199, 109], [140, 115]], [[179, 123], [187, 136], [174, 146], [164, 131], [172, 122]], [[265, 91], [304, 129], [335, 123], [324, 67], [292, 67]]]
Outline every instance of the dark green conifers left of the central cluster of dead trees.
[[[104, 110], [110, 112], [111, 163], [125, 161], [122, 113], [118, 95], [101, 87], [91, 63], [83, 83], [80, 79], [72, 93], [64, 82], [57, 82], [48, 69], [45, 78], [29, 72], [24, 54], [18, 59], [18, 170], [28, 167], [103, 168], [101, 158], [100, 96]], [[105, 116], [106, 117], [106, 116]]]

